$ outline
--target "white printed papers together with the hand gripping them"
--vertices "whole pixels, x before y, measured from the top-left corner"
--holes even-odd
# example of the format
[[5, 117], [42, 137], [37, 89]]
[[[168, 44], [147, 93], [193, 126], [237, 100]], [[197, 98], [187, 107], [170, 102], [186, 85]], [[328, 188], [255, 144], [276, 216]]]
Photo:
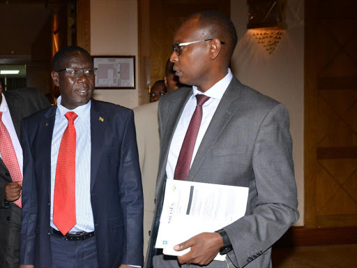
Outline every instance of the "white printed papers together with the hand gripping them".
[[155, 247], [181, 264], [225, 260], [215, 231], [244, 216], [247, 200], [246, 187], [167, 180]]

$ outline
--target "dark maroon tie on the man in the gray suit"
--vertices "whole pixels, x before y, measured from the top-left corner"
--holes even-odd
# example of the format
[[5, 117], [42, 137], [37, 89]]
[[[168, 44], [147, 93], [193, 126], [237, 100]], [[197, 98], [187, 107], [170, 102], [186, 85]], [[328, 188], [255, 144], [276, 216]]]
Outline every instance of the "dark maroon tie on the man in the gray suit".
[[175, 168], [174, 179], [179, 179], [181, 181], [185, 181], [188, 177], [188, 172], [190, 172], [193, 149], [195, 149], [199, 126], [201, 126], [202, 121], [202, 105], [209, 99], [208, 96], [202, 94], [197, 94], [196, 98], [196, 110], [192, 114], [190, 124], [188, 125]]

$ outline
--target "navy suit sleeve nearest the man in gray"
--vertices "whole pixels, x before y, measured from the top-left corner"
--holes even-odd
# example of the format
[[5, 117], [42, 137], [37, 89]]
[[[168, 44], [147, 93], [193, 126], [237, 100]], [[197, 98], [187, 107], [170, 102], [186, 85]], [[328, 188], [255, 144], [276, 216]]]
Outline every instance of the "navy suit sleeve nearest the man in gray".
[[142, 266], [144, 203], [132, 111], [130, 111], [124, 128], [120, 158], [118, 179], [126, 233], [122, 264]]

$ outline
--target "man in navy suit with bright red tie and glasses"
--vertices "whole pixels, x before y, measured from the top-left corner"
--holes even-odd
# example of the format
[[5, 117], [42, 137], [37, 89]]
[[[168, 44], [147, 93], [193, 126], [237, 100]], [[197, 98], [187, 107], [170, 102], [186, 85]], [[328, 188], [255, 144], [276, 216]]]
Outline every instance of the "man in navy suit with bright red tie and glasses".
[[22, 122], [22, 267], [140, 267], [142, 182], [132, 110], [92, 99], [81, 47], [59, 50], [57, 105]]

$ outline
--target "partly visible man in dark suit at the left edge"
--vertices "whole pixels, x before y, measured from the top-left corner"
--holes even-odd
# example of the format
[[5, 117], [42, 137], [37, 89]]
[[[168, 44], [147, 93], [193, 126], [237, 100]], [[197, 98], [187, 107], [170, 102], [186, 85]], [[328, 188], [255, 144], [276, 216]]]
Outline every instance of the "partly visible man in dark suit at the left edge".
[[[22, 118], [28, 117], [50, 103], [40, 90], [35, 88], [4, 91], [0, 82], [0, 267], [19, 267], [20, 251], [20, 223], [21, 223], [21, 195], [22, 185], [22, 148], [20, 145], [20, 123]], [[5, 133], [3, 133], [5, 131]], [[15, 152], [12, 161], [8, 151], [3, 148], [8, 144]], [[5, 151], [3, 151], [5, 149]], [[17, 181], [16, 170], [20, 171]], [[13, 170], [15, 168], [15, 171]], [[18, 201], [17, 201], [18, 200]], [[15, 204], [17, 201], [17, 204]]]

